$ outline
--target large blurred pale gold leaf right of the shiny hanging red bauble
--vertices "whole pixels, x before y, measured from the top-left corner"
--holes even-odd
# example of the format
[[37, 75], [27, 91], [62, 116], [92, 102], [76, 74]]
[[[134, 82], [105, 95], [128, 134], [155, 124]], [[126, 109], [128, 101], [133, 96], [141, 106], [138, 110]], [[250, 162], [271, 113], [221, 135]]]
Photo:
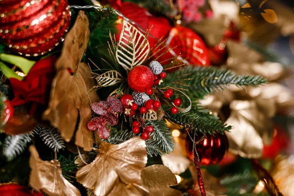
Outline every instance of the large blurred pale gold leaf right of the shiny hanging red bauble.
[[226, 121], [233, 128], [227, 132], [229, 150], [246, 158], [262, 155], [263, 143], [270, 143], [272, 123], [254, 100], [234, 100], [230, 104], [231, 115]]

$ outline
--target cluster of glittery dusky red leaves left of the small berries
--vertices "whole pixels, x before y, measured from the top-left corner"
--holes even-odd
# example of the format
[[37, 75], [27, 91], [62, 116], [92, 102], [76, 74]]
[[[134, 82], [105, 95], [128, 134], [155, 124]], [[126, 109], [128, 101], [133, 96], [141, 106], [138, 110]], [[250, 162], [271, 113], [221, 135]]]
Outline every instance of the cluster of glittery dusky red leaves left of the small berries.
[[98, 135], [102, 139], [107, 139], [110, 136], [110, 130], [106, 124], [116, 125], [119, 121], [116, 113], [123, 111], [123, 105], [118, 98], [108, 97], [106, 101], [94, 102], [91, 104], [92, 110], [100, 115], [92, 119], [88, 123], [90, 130], [97, 130]]

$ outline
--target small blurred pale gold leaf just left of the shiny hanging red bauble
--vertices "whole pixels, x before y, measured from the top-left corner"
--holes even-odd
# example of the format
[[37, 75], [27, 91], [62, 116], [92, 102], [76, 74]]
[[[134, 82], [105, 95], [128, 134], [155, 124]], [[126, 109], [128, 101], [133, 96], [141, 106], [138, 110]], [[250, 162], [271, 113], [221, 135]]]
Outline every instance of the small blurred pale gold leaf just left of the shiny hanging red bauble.
[[174, 174], [181, 174], [185, 172], [189, 165], [190, 160], [187, 158], [187, 153], [185, 150], [185, 139], [179, 137], [174, 137], [174, 149], [169, 154], [164, 154], [161, 156], [163, 165], [171, 169]]

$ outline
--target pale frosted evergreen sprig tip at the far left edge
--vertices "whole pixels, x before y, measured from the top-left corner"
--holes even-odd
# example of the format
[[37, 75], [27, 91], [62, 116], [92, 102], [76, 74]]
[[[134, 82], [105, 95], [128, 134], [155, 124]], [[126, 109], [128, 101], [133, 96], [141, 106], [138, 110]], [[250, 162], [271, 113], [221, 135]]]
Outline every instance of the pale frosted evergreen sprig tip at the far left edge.
[[20, 155], [32, 141], [33, 133], [19, 135], [8, 135], [3, 143], [3, 155], [7, 161], [12, 161], [17, 155]]

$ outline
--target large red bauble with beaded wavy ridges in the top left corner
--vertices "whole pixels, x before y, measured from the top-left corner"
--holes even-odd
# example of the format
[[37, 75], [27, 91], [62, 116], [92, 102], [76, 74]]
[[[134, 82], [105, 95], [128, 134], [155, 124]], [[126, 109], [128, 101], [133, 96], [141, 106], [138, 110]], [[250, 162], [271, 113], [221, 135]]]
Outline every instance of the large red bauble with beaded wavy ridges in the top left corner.
[[2, 0], [0, 13], [2, 42], [26, 56], [57, 46], [71, 18], [67, 0]]

